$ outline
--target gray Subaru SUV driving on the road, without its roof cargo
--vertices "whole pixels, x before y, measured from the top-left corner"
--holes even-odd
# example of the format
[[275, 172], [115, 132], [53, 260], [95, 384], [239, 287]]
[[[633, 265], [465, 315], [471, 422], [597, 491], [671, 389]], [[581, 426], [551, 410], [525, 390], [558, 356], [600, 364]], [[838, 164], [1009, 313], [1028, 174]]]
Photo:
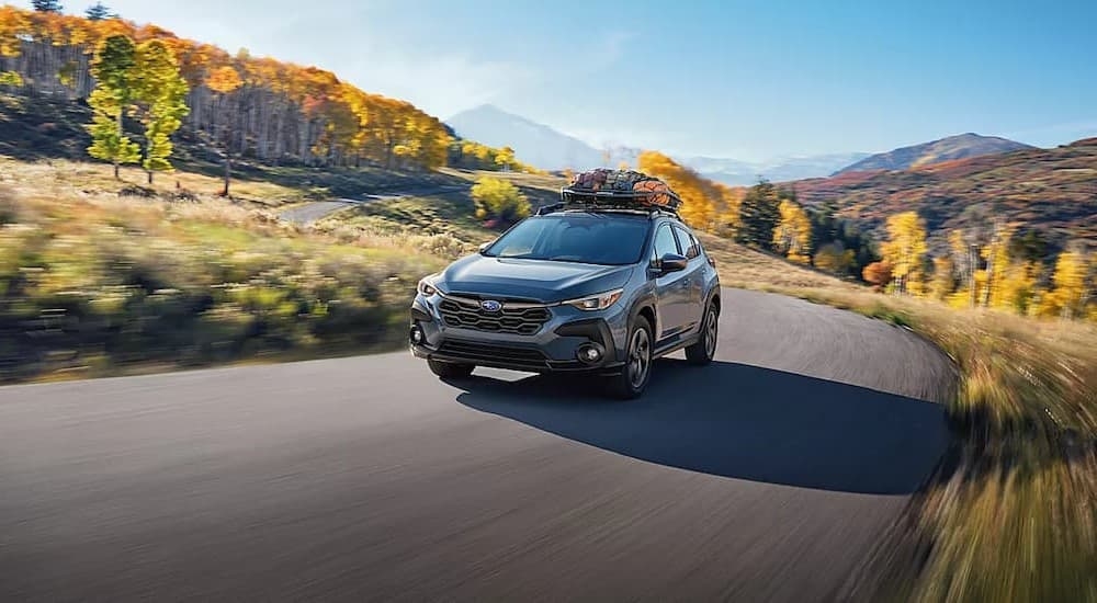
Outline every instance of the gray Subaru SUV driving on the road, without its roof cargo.
[[420, 281], [409, 338], [443, 378], [576, 372], [635, 398], [656, 357], [711, 362], [719, 316], [715, 263], [676, 213], [558, 204]]

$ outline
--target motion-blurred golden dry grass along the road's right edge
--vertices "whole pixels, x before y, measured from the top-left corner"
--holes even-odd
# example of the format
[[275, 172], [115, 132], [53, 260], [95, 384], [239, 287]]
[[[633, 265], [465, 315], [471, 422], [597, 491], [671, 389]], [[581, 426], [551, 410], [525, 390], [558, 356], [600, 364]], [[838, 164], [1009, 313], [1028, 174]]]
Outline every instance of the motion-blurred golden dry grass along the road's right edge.
[[906, 326], [959, 368], [947, 409], [954, 447], [882, 544], [857, 599], [1097, 601], [1097, 326], [877, 294], [732, 243], [705, 244], [726, 284]]

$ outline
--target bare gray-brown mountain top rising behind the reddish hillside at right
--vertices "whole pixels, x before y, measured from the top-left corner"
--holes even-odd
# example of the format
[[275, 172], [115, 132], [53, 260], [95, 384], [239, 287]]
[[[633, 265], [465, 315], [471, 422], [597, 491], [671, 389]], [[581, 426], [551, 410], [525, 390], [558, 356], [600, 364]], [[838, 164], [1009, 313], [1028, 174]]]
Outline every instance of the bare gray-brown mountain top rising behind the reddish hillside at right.
[[1024, 145], [1008, 138], [997, 136], [980, 136], [974, 133], [949, 136], [931, 143], [902, 147], [889, 152], [881, 152], [869, 156], [857, 161], [837, 173], [869, 172], [874, 170], [906, 170], [909, 168], [920, 168], [932, 166], [952, 159], [964, 159], [968, 157], [980, 157], [984, 155], [998, 155], [1021, 149], [1032, 149], [1029, 145]]

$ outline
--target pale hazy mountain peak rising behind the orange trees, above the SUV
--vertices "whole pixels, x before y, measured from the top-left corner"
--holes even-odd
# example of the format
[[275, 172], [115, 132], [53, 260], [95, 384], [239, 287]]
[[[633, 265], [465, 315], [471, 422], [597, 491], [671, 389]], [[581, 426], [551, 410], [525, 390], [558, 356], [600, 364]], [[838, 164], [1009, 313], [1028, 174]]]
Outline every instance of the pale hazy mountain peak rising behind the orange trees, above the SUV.
[[585, 170], [603, 163], [602, 151], [578, 138], [485, 104], [446, 120], [462, 138], [491, 147], [509, 146], [519, 161], [545, 170]]

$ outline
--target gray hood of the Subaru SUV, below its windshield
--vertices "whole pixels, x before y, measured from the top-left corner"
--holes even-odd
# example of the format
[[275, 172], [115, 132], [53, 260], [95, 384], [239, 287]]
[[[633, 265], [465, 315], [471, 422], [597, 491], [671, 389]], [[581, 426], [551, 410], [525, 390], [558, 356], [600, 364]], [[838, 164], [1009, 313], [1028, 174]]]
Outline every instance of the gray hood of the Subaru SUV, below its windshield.
[[546, 304], [612, 291], [633, 266], [470, 255], [450, 264], [437, 286], [444, 293], [536, 299]]

